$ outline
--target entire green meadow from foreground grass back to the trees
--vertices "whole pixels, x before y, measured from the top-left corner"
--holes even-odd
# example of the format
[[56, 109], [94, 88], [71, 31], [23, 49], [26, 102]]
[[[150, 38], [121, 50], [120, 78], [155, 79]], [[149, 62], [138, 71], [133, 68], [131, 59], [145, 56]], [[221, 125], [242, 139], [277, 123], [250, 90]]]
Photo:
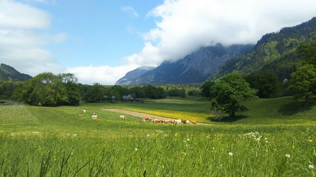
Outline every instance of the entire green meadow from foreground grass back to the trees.
[[[309, 165], [316, 164], [316, 106], [304, 109], [302, 102], [291, 97], [254, 100], [245, 103], [248, 112], [222, 122], [211, 120], [208, 100], [198, 97], [1, 107], [0, 115], [11, 110], [33, 119], [0, 122], [0, 176], [313, 177], [316, 170]], [[87, 113], [79, 116], [84, 109]], [[141, 124], [139, 117], [122, 120], [119, 113], [102, 109], [213, 125]], [[101, 118], [92, 120], [92, 113]]]

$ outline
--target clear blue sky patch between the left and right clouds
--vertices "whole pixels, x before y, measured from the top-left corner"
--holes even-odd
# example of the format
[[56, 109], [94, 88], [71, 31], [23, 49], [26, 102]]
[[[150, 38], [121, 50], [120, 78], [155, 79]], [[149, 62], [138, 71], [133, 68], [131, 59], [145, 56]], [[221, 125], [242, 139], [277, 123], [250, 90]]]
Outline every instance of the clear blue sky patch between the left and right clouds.
[[[146, 2], [146, 3], [144, 3]], [[147, 13], [162, 0], [56, 0], [32, 2], [53, 16], [50, 34], [65, 33], [67, 40], [45, 48], [61, 64], [122, 64], [124, 56], [143, 47], [140, 33], [155, 27]], [[128, 10], [134, 8], [137, 16]], [[127, 10], [124, 10], [127, 9]]]

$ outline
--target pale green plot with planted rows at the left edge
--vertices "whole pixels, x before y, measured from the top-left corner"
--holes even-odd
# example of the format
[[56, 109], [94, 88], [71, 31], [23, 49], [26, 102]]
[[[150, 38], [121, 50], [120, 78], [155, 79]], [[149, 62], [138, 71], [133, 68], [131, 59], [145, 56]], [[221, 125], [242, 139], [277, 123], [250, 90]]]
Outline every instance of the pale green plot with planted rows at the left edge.
[[35, 121], [36, 117], [23, 104], [0, 105], [0, 124]]

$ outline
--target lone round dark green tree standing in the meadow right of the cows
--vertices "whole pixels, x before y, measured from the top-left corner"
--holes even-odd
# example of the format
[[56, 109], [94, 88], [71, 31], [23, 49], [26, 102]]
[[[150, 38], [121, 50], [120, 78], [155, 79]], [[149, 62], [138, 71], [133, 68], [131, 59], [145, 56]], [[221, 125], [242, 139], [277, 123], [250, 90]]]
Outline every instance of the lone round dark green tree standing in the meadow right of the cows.
[[240, 74], [227, 74], [211, 86], [211, 110], [229, 113], [230, 117], [235, 117], [236, 112], [248, 110], [240, 102], [258, 98], [256, 92]]

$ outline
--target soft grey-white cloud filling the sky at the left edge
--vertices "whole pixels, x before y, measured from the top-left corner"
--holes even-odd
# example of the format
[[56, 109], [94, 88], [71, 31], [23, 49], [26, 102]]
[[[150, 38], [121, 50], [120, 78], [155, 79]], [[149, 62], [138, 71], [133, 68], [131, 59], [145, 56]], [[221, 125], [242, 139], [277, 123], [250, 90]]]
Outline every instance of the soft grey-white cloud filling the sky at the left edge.
[[59, 43], [65, 33], [48, 35], [51, 15], [25, 3], [0, 0], [0, 61], [19, 72], [35, 76], [41, 72], [62, 72], [66, 69], [53, 54], [44, 49], [48, 43]]

